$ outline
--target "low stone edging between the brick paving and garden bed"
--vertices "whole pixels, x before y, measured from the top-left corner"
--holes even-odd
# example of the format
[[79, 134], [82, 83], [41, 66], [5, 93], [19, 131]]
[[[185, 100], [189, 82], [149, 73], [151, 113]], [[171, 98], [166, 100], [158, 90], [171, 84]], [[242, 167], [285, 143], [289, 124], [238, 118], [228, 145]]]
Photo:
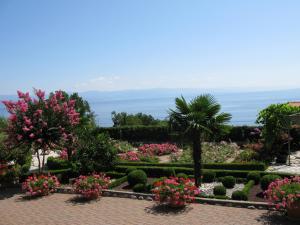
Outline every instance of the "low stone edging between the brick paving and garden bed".
[[[56, 189], [56, 193], [75, 194], [74, 190], [71, 187], [59, 187]], [[148, 201], [154, 200], [153, 194], [145, 194], [145, 193], [129, 192], [129, 191], [103, 190], [103, 196], [131, 198], [131, 199], [148, 200]], [[275, 210], [273, 205], [270, 205], [266, 202], [236, 201], [236, 200], [196, 197], [195, 203], [222, 205], [222, 206], [230, 206], [230, 207], [242, 207], [248, 209]]]

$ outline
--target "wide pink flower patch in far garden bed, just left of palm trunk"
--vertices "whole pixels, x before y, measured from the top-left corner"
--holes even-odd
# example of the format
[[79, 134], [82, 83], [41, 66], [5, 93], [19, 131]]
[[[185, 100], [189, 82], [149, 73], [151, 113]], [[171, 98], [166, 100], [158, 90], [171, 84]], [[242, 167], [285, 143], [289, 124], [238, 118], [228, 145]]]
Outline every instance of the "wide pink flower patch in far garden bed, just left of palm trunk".
[[139, 152], [142, 153], [150, 153], [152, 155], [167, 155], [170, 153], [178, 152], [178, 148], [176, 145], [164, 143], [164, 144], [145, 144], [138, 148]]

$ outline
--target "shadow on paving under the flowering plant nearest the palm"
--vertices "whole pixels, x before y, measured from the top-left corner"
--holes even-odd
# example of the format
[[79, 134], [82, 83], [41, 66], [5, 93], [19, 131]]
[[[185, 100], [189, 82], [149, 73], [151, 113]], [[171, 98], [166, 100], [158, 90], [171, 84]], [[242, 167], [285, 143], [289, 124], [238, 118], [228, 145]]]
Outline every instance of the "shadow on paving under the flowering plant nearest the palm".
[[192, 210], [191, 206], [185, 206], [182, 208], [173, 208], [168, 205], [153, 205], [146, 207], [145, 212], [153, 215], [177, 215], [177, 214], [186, 214]]

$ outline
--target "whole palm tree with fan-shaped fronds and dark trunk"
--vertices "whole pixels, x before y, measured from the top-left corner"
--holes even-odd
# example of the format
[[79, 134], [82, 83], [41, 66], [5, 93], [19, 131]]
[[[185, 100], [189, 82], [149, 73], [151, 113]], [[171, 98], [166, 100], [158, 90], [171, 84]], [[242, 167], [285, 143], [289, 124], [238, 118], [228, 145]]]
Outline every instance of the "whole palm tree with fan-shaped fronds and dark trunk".
[[175, 99], [176, 109], [170, 110], [169, 118], [171, 127], [181, 130], [193, 142], [193, 160], [195, 185], [201, 184], [201, 142], [206, 135], [226, 127], [231, 115], [220, 113], [221, 105], [210, 94], [200, 95], [187, 103], [183, 96]]

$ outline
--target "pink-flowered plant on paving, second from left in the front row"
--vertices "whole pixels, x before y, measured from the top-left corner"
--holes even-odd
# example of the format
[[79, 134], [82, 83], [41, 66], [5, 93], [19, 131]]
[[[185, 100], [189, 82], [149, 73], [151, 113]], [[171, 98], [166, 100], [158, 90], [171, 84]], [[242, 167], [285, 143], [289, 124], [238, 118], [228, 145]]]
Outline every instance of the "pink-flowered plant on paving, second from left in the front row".
[[84, 198], [94, 199], [102, 194], [103, 189], [107, 189], [110, 178], [105, 174], [93, 174], [90, 176], [79, 176], [74, 183], [76, 193], [81, 194]]

